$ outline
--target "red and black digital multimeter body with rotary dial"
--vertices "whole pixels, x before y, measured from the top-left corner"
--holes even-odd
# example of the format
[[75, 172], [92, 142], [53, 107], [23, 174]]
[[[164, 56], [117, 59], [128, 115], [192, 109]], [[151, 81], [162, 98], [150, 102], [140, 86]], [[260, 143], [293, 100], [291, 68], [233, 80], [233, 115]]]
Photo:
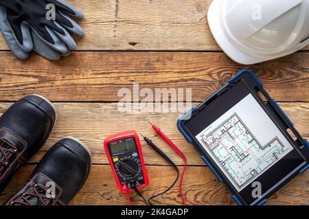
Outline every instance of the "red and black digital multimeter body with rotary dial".
[[149, 183], [139, 137], [135, 131], [125, 131], [104, 140], [108, 161], [115, 175], [118, 189], [125, 192], [143, 188]]

